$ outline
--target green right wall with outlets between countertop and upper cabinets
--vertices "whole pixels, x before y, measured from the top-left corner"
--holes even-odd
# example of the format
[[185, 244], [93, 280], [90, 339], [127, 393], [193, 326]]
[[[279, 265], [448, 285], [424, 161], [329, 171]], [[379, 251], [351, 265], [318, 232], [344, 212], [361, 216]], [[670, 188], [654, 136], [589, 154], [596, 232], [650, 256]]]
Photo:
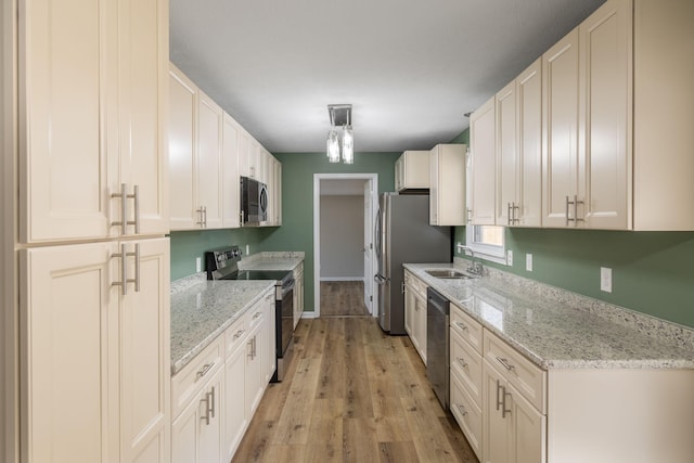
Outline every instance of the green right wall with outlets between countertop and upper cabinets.
[[[452, 142], [467, 141], [465, 130]], [[505, 240], [513, 267], [486, 265], [694, 327], [693, 232], [512, 228]], [[465, 227], [455, 228], [455, 241], [465, 243]], [[600, 291], [601, 267], [613, 269], [612, 293]]]

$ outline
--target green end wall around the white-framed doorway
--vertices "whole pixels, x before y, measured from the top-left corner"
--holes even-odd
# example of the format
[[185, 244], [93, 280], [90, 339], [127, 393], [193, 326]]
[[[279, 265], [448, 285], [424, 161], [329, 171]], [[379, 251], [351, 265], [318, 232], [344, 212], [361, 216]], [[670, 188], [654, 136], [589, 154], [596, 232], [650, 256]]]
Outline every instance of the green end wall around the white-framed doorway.
[[305, 309], [313, 305], [313, 175], [377, 173], [380, 192], [395, 189], [395, 162], [402, 153], [356, 153], [355, 164], [330, 164], [324, 153], [274, 153], [282, 163], [282, 227], [262, 250], [303, 250]]

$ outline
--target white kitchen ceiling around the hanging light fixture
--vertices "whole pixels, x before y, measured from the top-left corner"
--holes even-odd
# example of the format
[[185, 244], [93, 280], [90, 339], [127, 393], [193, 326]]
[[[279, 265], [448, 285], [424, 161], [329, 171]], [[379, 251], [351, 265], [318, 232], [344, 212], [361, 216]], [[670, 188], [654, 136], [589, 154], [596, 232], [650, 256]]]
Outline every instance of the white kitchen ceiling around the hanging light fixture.
[[170, 0], [171, 61], [270, 152], [428, 150], [604, 0]]

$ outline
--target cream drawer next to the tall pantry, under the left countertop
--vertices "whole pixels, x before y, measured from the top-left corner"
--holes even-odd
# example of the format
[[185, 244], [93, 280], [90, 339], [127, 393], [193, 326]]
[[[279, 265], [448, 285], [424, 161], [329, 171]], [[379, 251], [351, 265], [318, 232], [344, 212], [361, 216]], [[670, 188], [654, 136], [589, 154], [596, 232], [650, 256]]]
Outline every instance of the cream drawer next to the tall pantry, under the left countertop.
[[207, 384], [223, 362], [224, 336], [219, 336], [171, 378], [171, 415], [178, 414]]

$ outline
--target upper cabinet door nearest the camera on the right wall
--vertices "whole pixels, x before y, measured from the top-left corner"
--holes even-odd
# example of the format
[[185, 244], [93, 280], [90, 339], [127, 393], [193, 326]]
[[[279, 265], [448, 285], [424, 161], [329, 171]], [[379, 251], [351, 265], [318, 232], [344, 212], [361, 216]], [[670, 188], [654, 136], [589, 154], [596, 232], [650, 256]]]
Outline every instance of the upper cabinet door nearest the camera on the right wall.
[[632, 16], [631, 1], [611, 0], [579, 27], [578, 210], [589, 228], [632, 228]]

